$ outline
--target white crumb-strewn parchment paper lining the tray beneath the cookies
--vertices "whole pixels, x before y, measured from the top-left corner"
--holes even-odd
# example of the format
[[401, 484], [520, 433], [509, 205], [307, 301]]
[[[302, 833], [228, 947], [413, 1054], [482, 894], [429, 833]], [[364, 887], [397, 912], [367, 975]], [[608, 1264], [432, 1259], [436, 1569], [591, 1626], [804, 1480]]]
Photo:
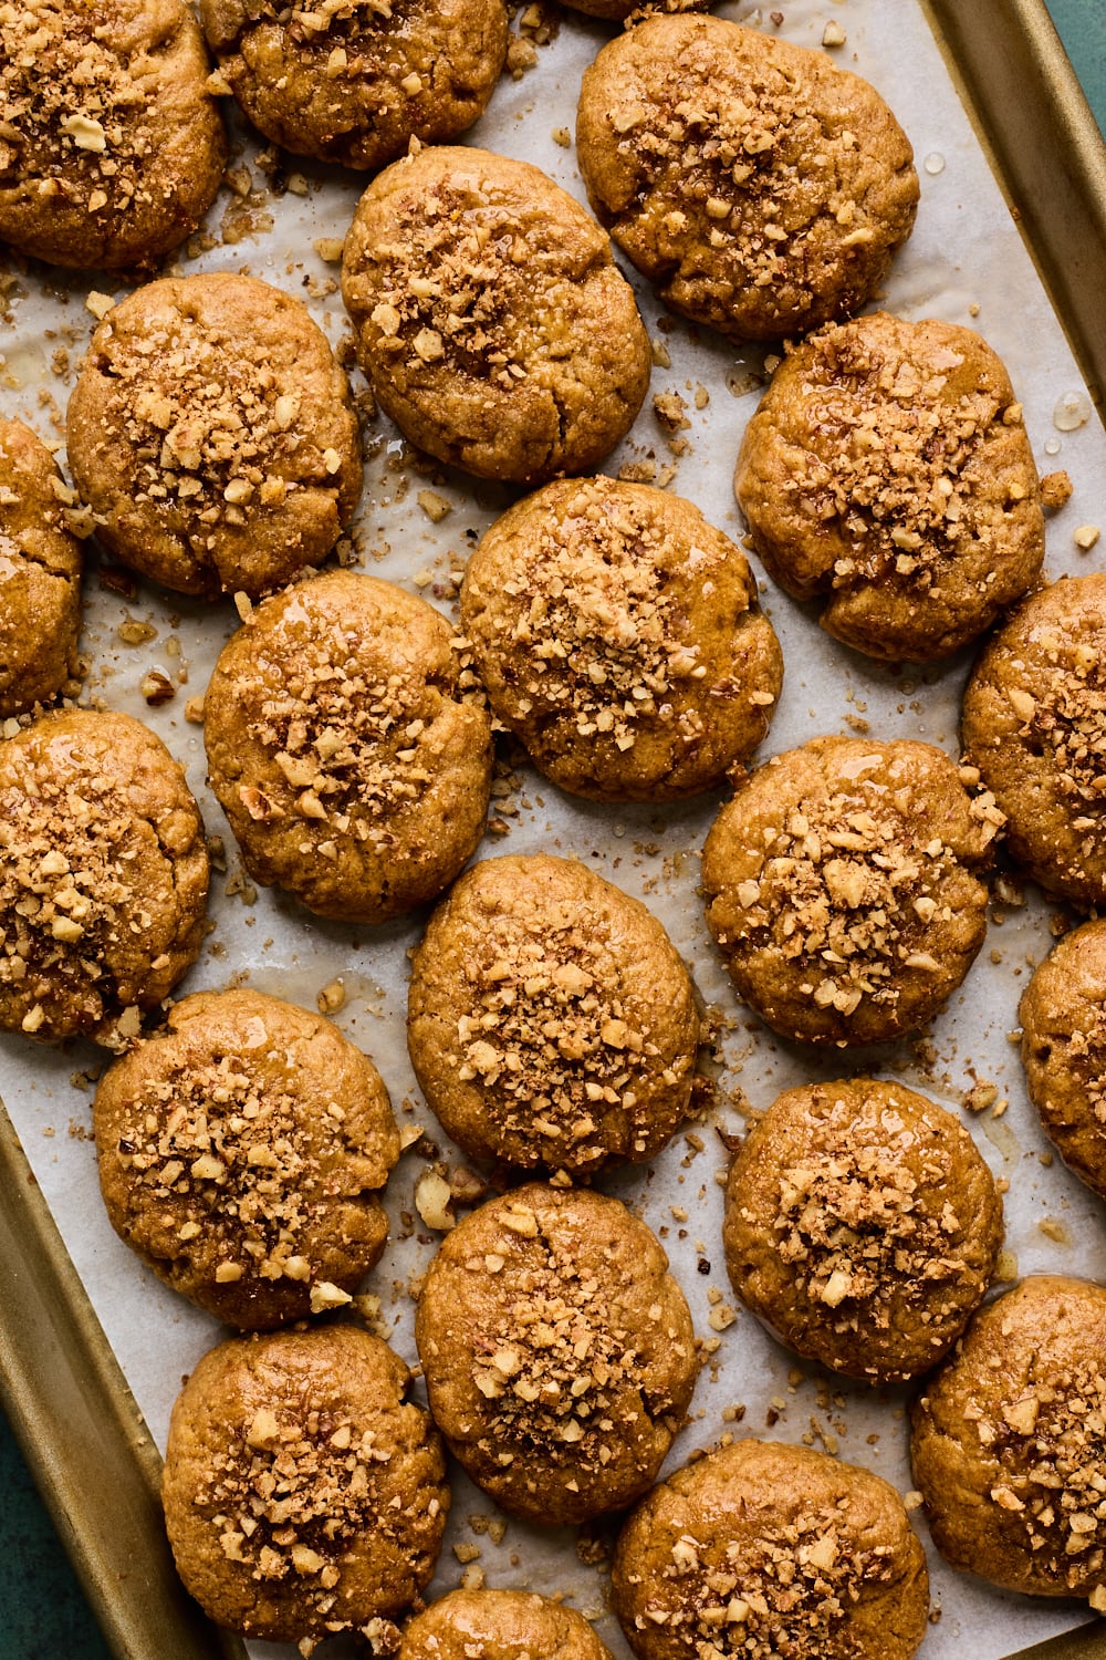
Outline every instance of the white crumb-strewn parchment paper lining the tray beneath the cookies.
[[[1063, 330], [920, 7], [907, 0], [894, 5], [847, 0], [839, 7], [796, 0], [781, 13], [735, 3], [716, 10], [769, 32], [776, 27], [773, 15], [781, 15], [779, 33], [808, 46], [821, 43], [831, 18], [841, 25], [846, 43], [834, 48], [834, 60], [867, 75], [884, 93], [914, 141], [922, 181], [917, 229], [897, 257], [884, 304], [904, 317], [935, 315], [977, 327], [1005, 357], [1025, 403], [1040, 470], [1063, 466], [1074, 483], [1070, 505], [1048, 526], [1048, 573], [1101, 568], [1101, 544], [1081, 554], [1073, 531], [1106, 511], [1106, 435], [1093, 417]], [[559, 138], [574, 126], [580, 73], [609, 33], [565, 13], [555, 38], [537, 46], [534, 66], [517, 80], [504, 76], [469, 141], [536, 161], [584, 199], [574, 151]], [[239, 138], [234, 188], [221, 193], [209, 216], [214, 246], [202, 247], [194, 239], [179, 267], [249, 269], [303, 297], [338, 342], [347, 332], [338, 272], [320, 257], [315, 242], [342, 237], [365, 181], [285, 158], [289, 188], [277, 194], [259, 166], [262, 146]], [[764, 350], [735, 350], [720, 337], [668, 317], [645, 284], [628, 274], [650, 334], [660, 342], [658, 355], [667, 355], [670, 367], [653, 370], [642, 415], [605, 470], [630, 470], [632, 476], [668, 483], [696, 501], [713, 523], [738, 535], [730, 480], [743, 425], [756, 407]], [[60, 438], [73, 369], [95, 327], [85, 297], [90, 289], [111, 292], [111, 286], [103, 277], [55, 272], [45, 282], [41, 267], [12, 276], [10, 317], [0, 335], [5, 359], [0, 408], [28, 420], [43, 437]], [[355, 387], [360, 385], [355, 375]], [[690, 428], [677, 435], [686, 442], [682, 455], [672, 453], [668, 435], [652, 412], [652, 397], [672, 390], [686, 400]], [[428, 488], [451, 505], [439, 523], [420, 506], [418, 495]], [[411, 456], [381, 417], [370, 432], [366, 490], [353, 538], [357, 558], [373, 574], [400, 581], [451, 613], [473, 538], [507, 500], [497, 486], [443, 473]], [[771, 586], [763, 598], [783, 642], [786, 679], [761, 755], [819, 732], [866, 730], [876, 737], [924, 737], [955, 754], [967, 656], [924, 671], [887, 669], [826, 639], [813, 611]], [[199, 606], [144, 586], [134, 596], [119, 594], [95, 569], [86, 604], [83, 646], [91, 659], [86, 701], [128, 709], [154, 727], [187, 767], [209, 832], [226, 838], [227, 872], [212, 886], [216, 930], [181, 991], [249, 979], [259, 989], [315, 1006], [320, 993], [340, 981], [345, 1003], [335, 1019], [373, 1054], [401, 1120], [423, 1124], [446, 1165], [463, 1162], [423, 1106], [406, 1059], [406, 948], [418, 938], [421, 918], [381, 930], [350, 928], [312, 918], [280, 895], [255, 891], [242, 876], [234, 842], [206, 788], [202, 732], [186, 717], [186, 702], [202, 694], [211, 664], [237, 624], [234, 608]], [[156, 709], [141, 694], [151, 667], [164, 671], [177, 687], [174, 699]], [[1010, 1184], [1007, 1270], [1106, 1280], [1101, 1202], [1051, 1162], [1010, 1042], [1030, 964], [1051, 943], [1050, 908], [1031, 890], [1026, 903], [1015, 903], [1010, 890], [997, 901], [988, 941], [965, 988], [924, 1038], [877, 1051], [811, 1057], [773, 1038], [736, 1004], [706, 935], [696, 895], [698, 850], [716, 798], [663, 810], [600, 808], [560, 795], [519, 764], [517, 755], [511, 760], [514, 765], [504, 765], [496, 785], [496, 833], [484, 840], [479, 855], [572, 853], [642, 895], [665, 920], [693, 966], [705, 1001], [723, 1021], [725, 1069], [716, 1112], [688, 1125], [688, 1134], [680, 1134], [648, 1172], [622, 1172], [602, 1184], [662, 1233], [696, 1330], [713, 1350], [670, 1467], [721, 1433], [809, 1438], [867, 1464], [907, 1492], [912, 1486], [905, 1457], [907, 1391], [872, 1394], [803, 1365], [748, 1313], [736, 1313], [726, 1323], [735, 1300], [721, 1258], [718, 1177], [725, 1152], [715, 1119], [726, 1130], [740, 1129], [745, 1104], [766, 1107], [783, 1087], [846, 1072], [900, 1077], [953, 1109], [973, 1084], [995, 1082], [995, 1106], [965, 1117], [995, 1174]], [[164, 1444], [181, 1376], [221, 1331], [154, 1282], [106, 1223], [90, 1140], [90, 1077], [101, 1064], [103, 1056], [91, 1047], [51, 1051], [0, 1038], [0, 1094], [151, 1433]], [[424, 1144], [410, 1150], [393, 1177], [391, 1243], [368, 1283], [381, 1300], [381, 1330], [410, 1361], [416, 1358], [411, 1288], [434, 1248], [413, 1205], [424, 1152]], [[469, 1580], [483, 1574], [489, 1585], [565, 1595], [599, 1620], [600, 1635], [615, 1655], [628, 1655], [604, 1609], [602, 1569], [582, 1560], [575, 1534], [546, 1534], [514, 1521], [502, 1532], [489, 1531], [494, 1506], [454, 1476], [454, 1509], [431, 1594], [451, 1589], [463, 1574]], [[925, 1536], [920, 1512], [915, 1521]], [[939, 1617], [922, 1650], [930, 1660], [963, 1653], [965, 1642], [973, 1660], [997, 1660], [1086, 1618], [1084, 1605], [1005, 1595], [953, 1574], [935, 1557], [932, 1574]], [[257, 1657], [293, 1653], [279, 1645], [249, 1647]], [[342, 1653], [342, 1642], [332, 1652]]]

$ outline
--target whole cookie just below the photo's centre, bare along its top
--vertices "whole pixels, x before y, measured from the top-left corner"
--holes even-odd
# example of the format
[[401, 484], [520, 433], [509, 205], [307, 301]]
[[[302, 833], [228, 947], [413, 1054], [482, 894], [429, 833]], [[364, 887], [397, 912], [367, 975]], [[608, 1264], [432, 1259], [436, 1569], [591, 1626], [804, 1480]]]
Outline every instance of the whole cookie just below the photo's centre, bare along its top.
[[415, 954], [411, 1064], [473, 1159], [575, 1179], [652, 1159], [688, 1112], [698, 1038], [662, 925], [577, 860], [474, 865]]

